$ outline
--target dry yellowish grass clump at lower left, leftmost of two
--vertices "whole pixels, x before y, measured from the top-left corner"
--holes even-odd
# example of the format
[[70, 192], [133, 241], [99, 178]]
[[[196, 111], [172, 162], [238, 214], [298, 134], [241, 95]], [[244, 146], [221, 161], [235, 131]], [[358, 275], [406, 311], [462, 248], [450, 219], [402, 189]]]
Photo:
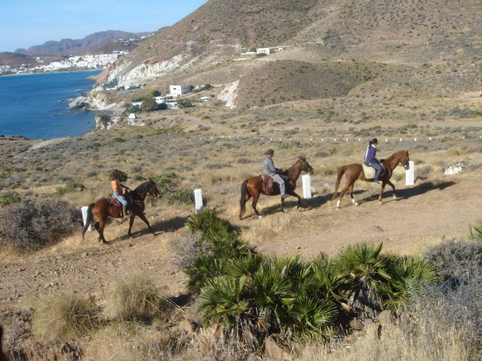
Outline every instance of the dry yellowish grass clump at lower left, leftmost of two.
[[50, 342], [83, 337], [100, 324], [99, 314], [78, 294], [50, 294], [35, 307], [32, 331]]

